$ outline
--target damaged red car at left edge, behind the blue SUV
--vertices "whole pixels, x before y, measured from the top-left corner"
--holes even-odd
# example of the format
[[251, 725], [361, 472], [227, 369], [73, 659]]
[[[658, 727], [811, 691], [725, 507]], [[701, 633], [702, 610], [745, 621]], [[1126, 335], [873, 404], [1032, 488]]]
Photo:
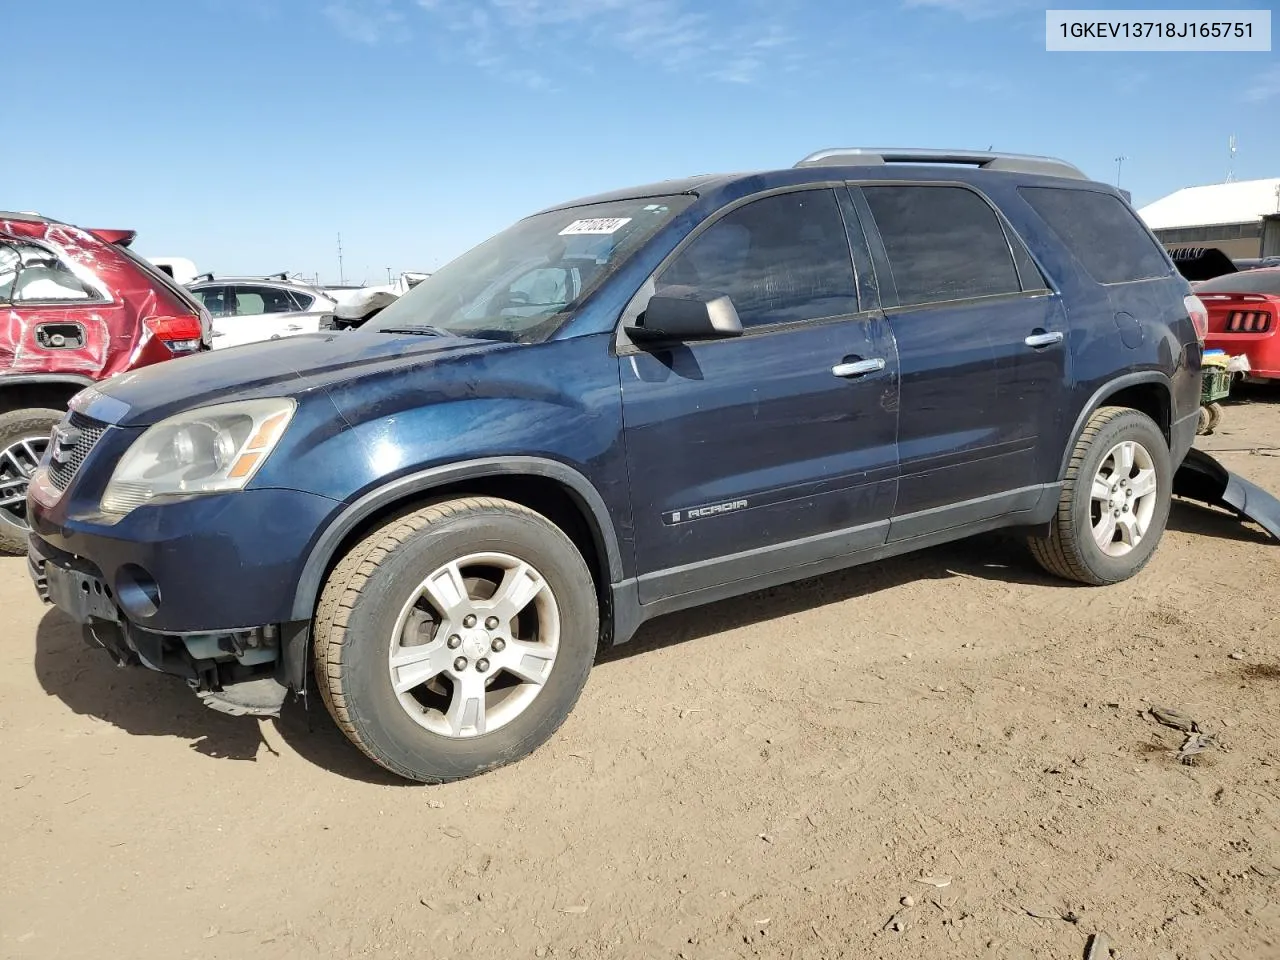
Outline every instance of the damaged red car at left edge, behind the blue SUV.
[[133, 237], [0, 212], [0, 552], [27, 549], [27, 481], [76, 393], [209, 349], [209, 312]]

